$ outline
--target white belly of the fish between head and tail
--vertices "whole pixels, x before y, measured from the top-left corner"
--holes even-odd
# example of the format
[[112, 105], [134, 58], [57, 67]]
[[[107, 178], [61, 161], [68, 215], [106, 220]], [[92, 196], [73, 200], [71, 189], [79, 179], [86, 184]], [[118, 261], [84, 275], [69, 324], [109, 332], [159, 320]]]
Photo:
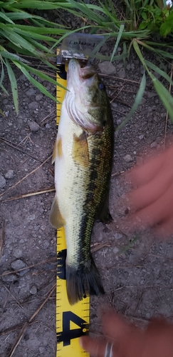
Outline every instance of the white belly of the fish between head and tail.
[[55, 184], [56, 196], [61, 215], [65, 219], [65, 239], [67, 244], [66, 263], [75, 263], [80, 249], [80, 225], [85, 212], [85, 187], [88, 183], [88, 168], [81, 168], [73, 160], [74, 135], [80, 136], [83, 129], [70, 120], [65, 109], [61, 109], [61, 120], [57, 140], [61, 138], [62, 154], [56, 157]]

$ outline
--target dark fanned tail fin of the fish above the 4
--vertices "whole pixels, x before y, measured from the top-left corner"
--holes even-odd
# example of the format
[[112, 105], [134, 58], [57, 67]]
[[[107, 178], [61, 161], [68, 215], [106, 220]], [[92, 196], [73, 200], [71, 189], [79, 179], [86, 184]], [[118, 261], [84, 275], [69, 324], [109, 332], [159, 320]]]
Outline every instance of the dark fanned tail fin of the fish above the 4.
[[70, 305], [82, 300], [85, 295], [105, 293], [98, 269], [93, 258], [87, 266], [81, 265], [77, 269], [66, 266], [67, 295]]

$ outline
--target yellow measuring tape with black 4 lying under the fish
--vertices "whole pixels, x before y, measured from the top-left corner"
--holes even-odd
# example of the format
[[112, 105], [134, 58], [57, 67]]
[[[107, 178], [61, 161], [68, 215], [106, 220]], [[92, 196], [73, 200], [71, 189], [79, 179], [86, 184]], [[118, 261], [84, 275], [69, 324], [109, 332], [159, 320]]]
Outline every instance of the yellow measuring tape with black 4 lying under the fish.
[[[56, 81], [67, 86], [66, 65], [59, 65]], [[65, 89], [57, 86], [56, 98], [61, 103]], [[56, 105], [56, 123], [61, 116], [61, 104]], [[88, 334], [90, 322], [90, 297], [71, 306], [68, 302], [65, 281], [66, 243], [64, 228], [57, 230], [57, 280], [56, 280], [56, 357], [89, 357], [79, 345], [79, 337]]]

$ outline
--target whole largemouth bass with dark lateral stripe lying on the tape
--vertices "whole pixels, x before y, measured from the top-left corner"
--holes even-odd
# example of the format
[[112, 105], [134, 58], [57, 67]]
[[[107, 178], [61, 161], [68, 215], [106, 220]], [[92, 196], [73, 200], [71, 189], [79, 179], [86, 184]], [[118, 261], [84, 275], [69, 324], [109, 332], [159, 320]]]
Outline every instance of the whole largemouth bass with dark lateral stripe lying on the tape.
[[65, 228], [65, 274], [71, 305], [85, 294], [104, 293], [90, 253], [96, 219], [111, 220], [108, 209], [114, 129], [105, 85], [92, 66], [68, 64], [67, 88], [53, 149], [56, 196], [51, 224]]

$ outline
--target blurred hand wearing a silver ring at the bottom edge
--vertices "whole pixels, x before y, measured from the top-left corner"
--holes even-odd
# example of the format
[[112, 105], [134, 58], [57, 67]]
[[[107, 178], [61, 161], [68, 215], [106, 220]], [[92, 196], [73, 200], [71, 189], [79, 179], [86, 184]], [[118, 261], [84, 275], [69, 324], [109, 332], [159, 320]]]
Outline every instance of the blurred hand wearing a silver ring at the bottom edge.
[[172, 357], [173, 326], [155, 320], [143, 331], [127, 324], [115, 312], [103, 316], [105, 338], [80, 337], [90, 357]]

